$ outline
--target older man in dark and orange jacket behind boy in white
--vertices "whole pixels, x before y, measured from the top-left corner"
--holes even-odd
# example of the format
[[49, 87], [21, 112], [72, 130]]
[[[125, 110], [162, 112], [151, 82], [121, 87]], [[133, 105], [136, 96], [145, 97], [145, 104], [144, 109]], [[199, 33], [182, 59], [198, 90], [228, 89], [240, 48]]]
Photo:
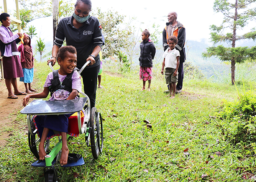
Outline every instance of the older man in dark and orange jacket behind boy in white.
[[178, 43], [175, 48], [180, 51], [180, 66], [178, 69], [178, 82], [176, 86], [176, 93], [180, 93], [183, 85], [183, 63], [186, 60], [185, 53], [185, 39], [186, 39], [186, 30], [184, 26], [177, 21], [177, 13], [170, 12], [168, 14], [168, 23], [166, 23], [166, 27], [163, 29], [163, 49], [164, 51], [169, 47], [167, 43], [167, 39], [169, 36], [176, 36], [178, 39]]

